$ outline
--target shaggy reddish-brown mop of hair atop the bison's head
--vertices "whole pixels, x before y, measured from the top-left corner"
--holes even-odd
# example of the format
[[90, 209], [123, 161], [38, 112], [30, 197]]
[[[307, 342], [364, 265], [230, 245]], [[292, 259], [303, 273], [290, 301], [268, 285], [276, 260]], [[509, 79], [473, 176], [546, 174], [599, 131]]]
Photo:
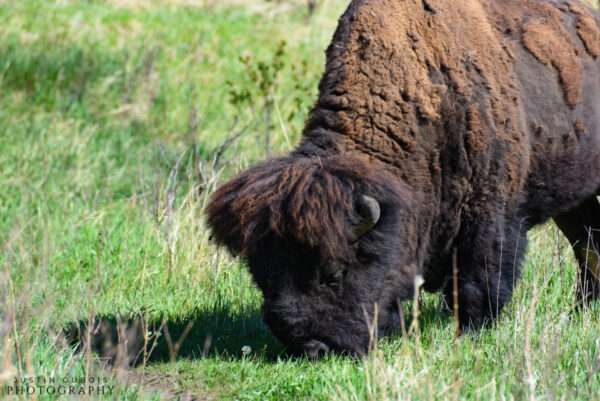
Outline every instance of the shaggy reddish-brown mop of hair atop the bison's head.
[[348, 260], [357, 196], [375, 196], [383, 205], [398, 202], [393, 181], [347, 155], [274, 159], [219, 188], [208, 223], [214, 239], [234, 255], [248, 256], [275, 235], [314, 248], [324, 259]]

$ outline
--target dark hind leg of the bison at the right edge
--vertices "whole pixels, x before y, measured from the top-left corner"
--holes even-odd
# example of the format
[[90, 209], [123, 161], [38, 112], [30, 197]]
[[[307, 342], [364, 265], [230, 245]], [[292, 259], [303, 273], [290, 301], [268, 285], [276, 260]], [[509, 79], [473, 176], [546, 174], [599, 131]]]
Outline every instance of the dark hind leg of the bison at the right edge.
[[600, 204], [595, 196], [554, 218], [579, 263], [577, 298], [582, 305], [600, 297]]

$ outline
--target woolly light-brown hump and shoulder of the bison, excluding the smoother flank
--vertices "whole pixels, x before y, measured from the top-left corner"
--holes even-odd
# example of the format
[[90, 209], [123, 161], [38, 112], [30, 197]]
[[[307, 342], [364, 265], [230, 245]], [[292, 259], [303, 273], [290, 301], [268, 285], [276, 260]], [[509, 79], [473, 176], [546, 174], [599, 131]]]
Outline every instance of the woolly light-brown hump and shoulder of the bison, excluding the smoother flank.
[[488, 11], [426, 4], [352, 2], [297, 150], [360, 154], [405, 182], [424, 261], [451, 247], [475, 198], [513, 202], [528, 168], [517, 81]]

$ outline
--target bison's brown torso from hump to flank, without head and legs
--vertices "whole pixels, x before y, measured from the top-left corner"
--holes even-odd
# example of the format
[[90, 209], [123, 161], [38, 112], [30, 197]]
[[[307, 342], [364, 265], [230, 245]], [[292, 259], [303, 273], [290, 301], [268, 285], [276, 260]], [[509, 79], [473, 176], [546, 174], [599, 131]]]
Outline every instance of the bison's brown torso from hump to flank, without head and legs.
[[598, 21], [576, 2], [354, 0], [296, 152], [406, 183], [425, 265], [488, 219], [526, 231], [598, 191]]

